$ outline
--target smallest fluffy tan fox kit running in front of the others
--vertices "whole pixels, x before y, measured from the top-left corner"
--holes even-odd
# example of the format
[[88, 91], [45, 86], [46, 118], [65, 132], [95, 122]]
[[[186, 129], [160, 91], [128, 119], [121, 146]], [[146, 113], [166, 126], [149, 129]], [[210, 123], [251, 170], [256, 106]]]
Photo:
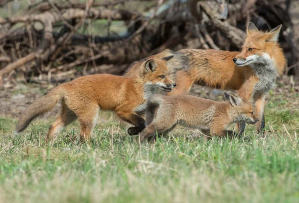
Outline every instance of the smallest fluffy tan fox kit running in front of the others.
[[171, 131], [177, 124], [198, 128], [210, 135], [227, 135], [226, 126], [246, 122], [255, 124], [258, 118], [249, 101], [224, 93], [226, 102], [215, 102], [191, 95], [153, 95], [148, 101], [147, 123], [140, 134], [141, 141], [156, 133]]

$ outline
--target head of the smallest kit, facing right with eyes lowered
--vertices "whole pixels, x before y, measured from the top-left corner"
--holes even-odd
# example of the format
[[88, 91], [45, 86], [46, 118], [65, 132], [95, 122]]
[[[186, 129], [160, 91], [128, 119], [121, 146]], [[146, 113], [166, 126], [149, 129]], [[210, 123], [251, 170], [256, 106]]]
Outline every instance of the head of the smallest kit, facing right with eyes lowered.
[[230, 117], [234, 122], [246, 122], [255, 124], [259, 119], [254, 115], [251, 103], [243, 98], [237, 97], [234, 94], [224, 92], [225, 99], [231, 104]]

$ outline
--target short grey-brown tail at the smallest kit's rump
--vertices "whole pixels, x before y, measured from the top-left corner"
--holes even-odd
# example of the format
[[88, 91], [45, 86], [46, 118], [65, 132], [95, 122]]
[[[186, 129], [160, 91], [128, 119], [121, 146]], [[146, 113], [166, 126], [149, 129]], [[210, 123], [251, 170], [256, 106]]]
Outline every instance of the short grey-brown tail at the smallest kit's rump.
[[163, 101], [164, 95], [161, 94], [154, 94], [151, 97], [149, 97], [146, 117], [147, 126], [152, 122], [153, 118], [155, 117], [156, 111], [160, 106], [160, 103], [162, 103]]

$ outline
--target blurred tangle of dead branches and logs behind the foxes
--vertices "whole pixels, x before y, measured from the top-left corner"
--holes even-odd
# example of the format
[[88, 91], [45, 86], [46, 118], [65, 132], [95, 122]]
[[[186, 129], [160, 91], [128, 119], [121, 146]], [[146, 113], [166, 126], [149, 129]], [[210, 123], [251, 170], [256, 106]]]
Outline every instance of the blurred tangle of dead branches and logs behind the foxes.
[[299, 0], [0, 0], [0, 97], [10, 98], [1, 111], [31, 103], [29, 84], [44, 92], [80, 75], [119, 75], [165, 48], [239, 51], [249, 21], [283, 24], [288, 68], [278, 88], [298, 92]]

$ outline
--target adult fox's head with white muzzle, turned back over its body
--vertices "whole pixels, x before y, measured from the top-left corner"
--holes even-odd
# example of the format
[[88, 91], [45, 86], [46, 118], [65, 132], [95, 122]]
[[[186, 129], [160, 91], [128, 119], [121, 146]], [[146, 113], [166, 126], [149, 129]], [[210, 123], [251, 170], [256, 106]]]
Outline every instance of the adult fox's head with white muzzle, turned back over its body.
[[233, 59], [234, 63], [239, 67], [275, 63], [273, 61], [274, 48], [277, 45], [281, 28], [282, 25], [279, 25], [269, 32], [263, 32], [250, 22], [242, 51]]

